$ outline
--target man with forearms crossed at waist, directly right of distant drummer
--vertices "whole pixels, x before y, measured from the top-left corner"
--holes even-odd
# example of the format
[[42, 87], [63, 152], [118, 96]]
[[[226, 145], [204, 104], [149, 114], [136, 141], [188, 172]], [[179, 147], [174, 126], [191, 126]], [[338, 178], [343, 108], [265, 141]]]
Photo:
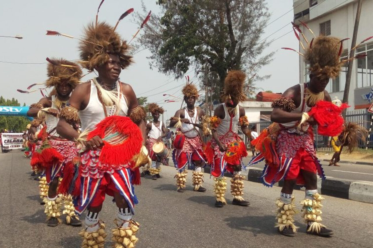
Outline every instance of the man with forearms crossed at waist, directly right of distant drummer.
[[203, 142], [200, 136], [202, 128], [201, 120], [204, 112], [201, 108], [195, 107], [195, 101], [198, 98], [198, 90], [192, 83], [187, 82], [182, 89], [186, 107], [176, 111], [175, 116], [170, 120], [170, 126], [175, 126], [181, 119], [181, 134], [178, 134], [177, 140], [184, 139], [184, 143], [176, 142], [175, 151], [173, 152], [173, 161], [179, 172], [175, 175], [178, 192], [185, 191], [186, 171], [185, 166], [195, 166], [192, 182], [194, 191], [205, 192], [206, 188], [202, 187], [203, 172], [202, 166], [206, 163], [206, 155], [203, 151]]

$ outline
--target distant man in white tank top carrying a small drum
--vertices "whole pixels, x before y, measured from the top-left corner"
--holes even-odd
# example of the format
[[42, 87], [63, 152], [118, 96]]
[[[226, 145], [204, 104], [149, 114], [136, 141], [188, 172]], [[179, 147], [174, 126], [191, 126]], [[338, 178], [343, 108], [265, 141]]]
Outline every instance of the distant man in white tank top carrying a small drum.
[[151, 178], [156, 180], [157, 178], [161, 178], [159, 175], [159, 172], [161, 171], [161, 158], [153, 152], [153, 145], [157, 142], [162, 142], [162, 139], [167, 135], [167, 130], [164, 123], [159, 120], [159, 115], [164, 112], [163, 108], [155, 103], [149, 104], [148, 108], [153, 116], [153, 122], [149, 122], [146, 125], [146, 135], [148, 137], [146, 140], [146, 146], [149, 157], [151, 158], [151, 167], [149, 169]]

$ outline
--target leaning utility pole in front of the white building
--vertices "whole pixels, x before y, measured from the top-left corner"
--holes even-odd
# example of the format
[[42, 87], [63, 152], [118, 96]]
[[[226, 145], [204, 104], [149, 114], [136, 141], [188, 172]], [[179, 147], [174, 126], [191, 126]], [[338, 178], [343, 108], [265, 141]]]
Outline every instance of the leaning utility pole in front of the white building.
[[[355, 47], [355, 45], [356, 45], [356, 37], [357, 37], [357, 30], [359, 28], [361, 5], [363, 5], [363, 0], [359, 0], [358, 3], [357, 3], [354, 34], [352, 35], [352, 41], [351, 41], [350, 58], [353, 58], [355, 56], [355, 49], [352, 50], [352, 48]], [[354, 64], [354, 60], [348, 61], [348, 68], [347, 68], [347, 75], [346, 75], [346, 85], [345, 85], [345, 91], [343, 93], [343, 101], [342, 101], [342, 102], [345, 102], [345, 103], [348, 102], [348, 94], [350, 93], [350, 82], [351, 82], [351, 74], [352, 74], [352, 65], [353, 64]], [[342, 116], [343, 116], [343, 118], [346, 117], [346, 109], [343, 110]]]

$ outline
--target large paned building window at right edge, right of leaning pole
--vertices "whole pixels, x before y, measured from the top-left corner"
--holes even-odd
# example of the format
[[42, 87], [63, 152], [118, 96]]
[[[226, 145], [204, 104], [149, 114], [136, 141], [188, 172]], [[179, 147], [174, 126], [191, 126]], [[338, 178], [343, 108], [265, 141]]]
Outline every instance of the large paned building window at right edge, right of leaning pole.
[[366, 57], [357, 59], [357, 88], [373, 86], [373, 42], [356, 48], [357, 54], [367, 53]]

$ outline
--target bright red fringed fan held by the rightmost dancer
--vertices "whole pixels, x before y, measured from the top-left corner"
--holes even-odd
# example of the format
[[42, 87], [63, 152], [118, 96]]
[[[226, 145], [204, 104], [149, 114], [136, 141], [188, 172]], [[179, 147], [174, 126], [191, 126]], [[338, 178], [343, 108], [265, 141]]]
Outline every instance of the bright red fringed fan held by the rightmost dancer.
[[311, 108], [308, 115], [317, 121], [317, 132], [319, 134], [336, 136], [343, 130], [344, 120], [341, 114], [343, 109], [348, 107], [345, 103], [338, 107], [332, 102], [319, 101]]

